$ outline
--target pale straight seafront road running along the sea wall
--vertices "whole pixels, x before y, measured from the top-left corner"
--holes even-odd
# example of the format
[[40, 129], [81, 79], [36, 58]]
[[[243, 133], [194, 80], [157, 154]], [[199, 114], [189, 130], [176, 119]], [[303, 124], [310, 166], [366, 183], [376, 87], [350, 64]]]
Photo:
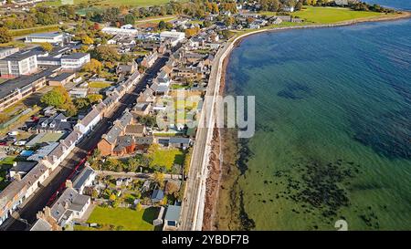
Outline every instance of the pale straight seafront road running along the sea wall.
[[[205, 125], [199, 126], [195, 135], [195, 145], [182, 205], [180, 230], [183, 231], [201, 230], [202, 228], [207, 162], [215, 124], [216, 96], [220, 86], [223, 60], [232, 46], [232, 43], [227, 43], [218, 50], [208, 80], [205, 95], [212, 99], [205, 99], [199, 120], [199, 123]], [[211, 101], [207, 102], [207, 100]], [[207, 111], [207, 109], [211, 109], [211, 111]]]

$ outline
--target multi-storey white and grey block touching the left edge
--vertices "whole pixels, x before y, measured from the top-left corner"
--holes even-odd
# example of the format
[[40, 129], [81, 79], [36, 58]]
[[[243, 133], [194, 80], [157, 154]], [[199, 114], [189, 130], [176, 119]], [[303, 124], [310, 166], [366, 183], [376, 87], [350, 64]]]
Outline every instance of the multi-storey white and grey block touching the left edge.
[[0, 59], [1, 78], [16, 78], [37, 71], [37, 55], [32, 50], [16, 52]]

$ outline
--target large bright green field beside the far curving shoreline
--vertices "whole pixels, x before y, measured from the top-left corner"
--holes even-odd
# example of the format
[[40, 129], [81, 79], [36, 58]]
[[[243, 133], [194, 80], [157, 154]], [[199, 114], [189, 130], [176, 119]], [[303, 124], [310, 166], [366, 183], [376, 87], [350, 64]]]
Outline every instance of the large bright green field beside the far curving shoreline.
[[369, 18], [382, 15], [385, 14], [368, 11], [353, 11], [351, 9], [341, 7], [313, 6], [306, 6], [306, 9], [302, 9], [300, 11], [293, 13], [293, 16], [298, 16], [302, 19], [306, 19], [308, 22], [318, 24], [331, 24], [347, 20]]

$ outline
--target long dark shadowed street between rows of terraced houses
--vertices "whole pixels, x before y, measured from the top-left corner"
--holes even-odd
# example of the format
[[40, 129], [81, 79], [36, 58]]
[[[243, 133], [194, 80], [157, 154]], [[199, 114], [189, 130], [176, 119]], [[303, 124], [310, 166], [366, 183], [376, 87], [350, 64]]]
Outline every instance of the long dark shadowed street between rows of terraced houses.
[[10, 217], [9, 220], [0, 227], [0, 230], [22, 231], [26, 230], [27, 225], [21, 220], [26, 220], [28, 223], [34, 223], [36, 221], [36, 214], [43, 210], [50, 197], [57, 192], [58, 187], [66, 181], [79, 161], [86, 157], [87, 152], [96, 147], [101, 135], [111, 128], [111, 123], [115, 119], [120, 118], [124, 110], [136, 101], [138, 95], [146, 88], [147, 84], [149, 84], [149, 80], [154, 78], [157, 72], [165, 65], [169, 56], [169, 54], [165, 54], [163, 57], [159, 57], [153, 66], [147, 69], [142, 79], [140, 79], [135, 88], [132, 89], [132, 92], [124, 94], [111, 112], [93, 128], [90, 136], [81, 140], [66, 160], [61, 162], [58, 168], [52, 172], [47, 182], [44, 182], [43, 186], [39, 187], [37, 192], [27, 200], [24, 206], [14, 213], [14, 217]]

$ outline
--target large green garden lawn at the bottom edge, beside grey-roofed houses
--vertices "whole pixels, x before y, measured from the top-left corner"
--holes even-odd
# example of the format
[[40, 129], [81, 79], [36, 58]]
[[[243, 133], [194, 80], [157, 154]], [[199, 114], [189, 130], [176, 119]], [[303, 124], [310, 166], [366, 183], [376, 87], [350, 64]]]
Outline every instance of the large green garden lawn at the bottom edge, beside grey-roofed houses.
[[[136, 211], [128, 208], [96, 207], [88, 223], [121, 226], [127, 231], [153, 231], [153, 220], [157, 218], [158, 209], [151, 207]], [[97, 230], [95, 228], [76, 227], [76, 230]]]

